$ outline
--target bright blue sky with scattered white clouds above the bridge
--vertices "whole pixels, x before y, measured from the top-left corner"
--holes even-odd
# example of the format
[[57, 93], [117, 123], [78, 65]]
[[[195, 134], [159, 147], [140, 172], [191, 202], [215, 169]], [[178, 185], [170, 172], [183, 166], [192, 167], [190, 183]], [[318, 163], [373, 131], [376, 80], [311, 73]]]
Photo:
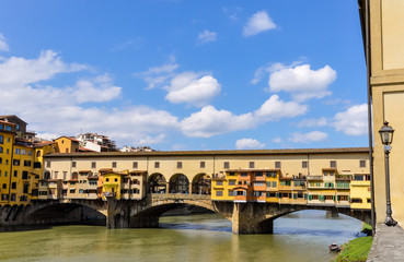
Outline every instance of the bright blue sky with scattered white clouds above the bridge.
[[355, 1], [1, 1], [1, 115], [119, 146], [367, 146]]

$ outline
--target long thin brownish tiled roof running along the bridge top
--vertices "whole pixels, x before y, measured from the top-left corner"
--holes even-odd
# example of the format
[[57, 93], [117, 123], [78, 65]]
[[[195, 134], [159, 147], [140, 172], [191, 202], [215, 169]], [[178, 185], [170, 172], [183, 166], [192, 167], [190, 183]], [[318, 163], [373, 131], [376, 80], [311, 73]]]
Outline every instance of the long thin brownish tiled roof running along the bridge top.
[[226, 155], [307, 155], [369, 153], [369, 147], [305, 148], [305, 150], [229, 150], [229, 151], [153, 151], [153, 152], [91, 152], [54, 153], [46, 157], [134, 157], [134, 156], [226, 156]]

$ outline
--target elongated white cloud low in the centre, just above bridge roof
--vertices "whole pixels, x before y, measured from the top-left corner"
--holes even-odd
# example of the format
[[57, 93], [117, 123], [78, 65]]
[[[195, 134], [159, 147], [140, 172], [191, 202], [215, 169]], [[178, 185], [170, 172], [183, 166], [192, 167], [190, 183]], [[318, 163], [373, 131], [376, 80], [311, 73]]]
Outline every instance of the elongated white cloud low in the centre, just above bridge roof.
[[210, 138], [236, 130], [255, 127], [252, 114], [235, 116], [227, 110], [217, 110], [206, 106], [181, 121], [182, 131], [192, 138]]

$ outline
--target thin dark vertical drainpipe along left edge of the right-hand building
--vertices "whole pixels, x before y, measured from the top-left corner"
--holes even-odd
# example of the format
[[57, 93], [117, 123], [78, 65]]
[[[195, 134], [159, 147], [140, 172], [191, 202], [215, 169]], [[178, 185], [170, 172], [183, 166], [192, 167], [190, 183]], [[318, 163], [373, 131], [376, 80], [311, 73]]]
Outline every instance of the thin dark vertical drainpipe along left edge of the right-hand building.
[[370, 32], [369, 32], [369, 0], [365, 0], [365, 55], [367, 68], [367, 90], [368, 90], [368, 132], [369, 132], [369, 168], [370, 168], [370, 200], [371, 200], [371, 221], [373, 236], [376, 233], [376, 211], [374, 211], [374, 179], [373, 179], [373, 133], [372, 133], [372, 92], [370, 86]]

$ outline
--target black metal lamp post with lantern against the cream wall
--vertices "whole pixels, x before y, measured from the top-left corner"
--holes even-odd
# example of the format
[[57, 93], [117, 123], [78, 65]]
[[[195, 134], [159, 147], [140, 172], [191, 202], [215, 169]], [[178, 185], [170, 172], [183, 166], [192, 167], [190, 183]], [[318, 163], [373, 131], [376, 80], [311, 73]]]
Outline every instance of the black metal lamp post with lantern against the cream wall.
[[397, 222], [391, 216], [391, 201], [390, 201], [390, 166], [389, 154], [391, 151], [391, 143], [393, 142], [394, 129], [389, 126], [388, 121], [384, 121], [383, 127], [379, 130], [382, 144], [384, 144], [384, 167], [385, 167], [385, 198], [386, 198], [386, 217], [384, 224], [388, 226], [395, 226]]

